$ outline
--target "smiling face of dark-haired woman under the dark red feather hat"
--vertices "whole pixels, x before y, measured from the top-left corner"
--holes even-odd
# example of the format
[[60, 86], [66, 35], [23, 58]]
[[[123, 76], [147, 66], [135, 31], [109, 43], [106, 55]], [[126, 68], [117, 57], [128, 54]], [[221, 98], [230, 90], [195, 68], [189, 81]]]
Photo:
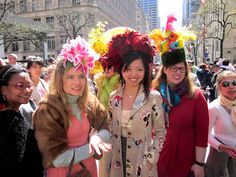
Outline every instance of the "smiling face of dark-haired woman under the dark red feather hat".
[[144, 78], [144, 66], [141, 59], [136, 59], [130, 63], [126, 71], [122, 71], [122, 76], [126, 85], [139, 86]]

